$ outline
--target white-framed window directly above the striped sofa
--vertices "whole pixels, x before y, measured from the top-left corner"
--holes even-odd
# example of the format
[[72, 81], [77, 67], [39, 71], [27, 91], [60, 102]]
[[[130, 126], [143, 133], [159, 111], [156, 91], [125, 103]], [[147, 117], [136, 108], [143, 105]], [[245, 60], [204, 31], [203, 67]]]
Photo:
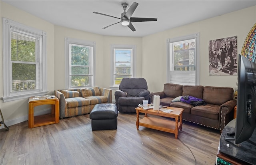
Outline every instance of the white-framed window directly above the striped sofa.
[[66, 89], [94, 85], [95, 42], [65, 38]]

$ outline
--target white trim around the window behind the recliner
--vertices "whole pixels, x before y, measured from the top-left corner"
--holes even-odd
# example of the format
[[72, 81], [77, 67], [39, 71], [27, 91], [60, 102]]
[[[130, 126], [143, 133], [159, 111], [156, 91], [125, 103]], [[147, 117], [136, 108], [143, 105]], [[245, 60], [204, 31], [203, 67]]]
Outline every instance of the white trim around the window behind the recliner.
[[132, 77], [136, 77], [136, 45], [111, 45], [111, 86], [110, 89], [119, 89], [119, 85], [114, 85], [114, 49], [132, 49]]

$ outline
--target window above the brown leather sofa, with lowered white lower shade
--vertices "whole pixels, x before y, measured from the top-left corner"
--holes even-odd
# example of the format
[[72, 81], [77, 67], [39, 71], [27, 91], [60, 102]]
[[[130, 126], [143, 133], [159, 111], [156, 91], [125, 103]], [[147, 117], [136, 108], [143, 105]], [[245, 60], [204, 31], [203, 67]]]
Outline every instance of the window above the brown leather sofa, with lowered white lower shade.
[[199, 33], [167, 40], [167, 81], [199, 84]]

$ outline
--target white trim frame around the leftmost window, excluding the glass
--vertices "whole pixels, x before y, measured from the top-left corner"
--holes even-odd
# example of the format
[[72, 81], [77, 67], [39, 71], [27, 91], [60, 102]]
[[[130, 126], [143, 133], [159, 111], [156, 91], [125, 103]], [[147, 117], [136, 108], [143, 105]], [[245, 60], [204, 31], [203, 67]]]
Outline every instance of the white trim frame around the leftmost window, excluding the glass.
[[[20, 29], [22, 31], [26, 31], [28, 33], [34, 33], [36, 35], [42, 36], [42, 54], [40, 54], [40, 58], [42, 60], [42, 90], [38, 91], [20, 91], [11, 93], [11, 83], [10, 83], [10, 71], [11, 71], [11, 64], [10, 64], [10, 28], [11, 26]], [[28, 98], [34, 95], [44, 95], [48, 93], [46, 91], [46, 32], [42, 30], [38, 30], [35, 28], [31, 28], [24, 24], [20, 24], [8, 18], [3, 18], [3, 86], [4, 86], [4, 97], [2, 97], [4, 102], [7, 101], [14, 101], [18, 99]]]

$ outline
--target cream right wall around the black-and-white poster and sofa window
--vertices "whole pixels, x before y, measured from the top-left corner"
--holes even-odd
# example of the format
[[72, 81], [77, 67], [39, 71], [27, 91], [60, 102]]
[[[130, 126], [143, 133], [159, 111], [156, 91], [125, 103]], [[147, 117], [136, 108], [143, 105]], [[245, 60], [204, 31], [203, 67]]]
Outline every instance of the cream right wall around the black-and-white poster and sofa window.
[[143, 37], [142, 76], [146, 78], [149, 90], [151, 92], [162, 91], [167, 81], [166, 40], [197, 32], [200, 32], [200, 85], [235, 89], [237, 76], [209, 76], [208, 44], [210, 40], [237, 36], [238, 54], [240, 54], [246, 36], [255, 23], [256, 6], [253, 6]]

